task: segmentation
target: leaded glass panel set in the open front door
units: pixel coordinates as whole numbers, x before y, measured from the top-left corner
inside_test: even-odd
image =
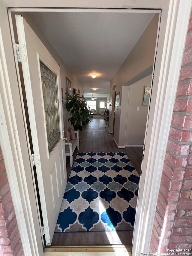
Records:
[[[57,76],[40,61],[49,153],[60,140]]]

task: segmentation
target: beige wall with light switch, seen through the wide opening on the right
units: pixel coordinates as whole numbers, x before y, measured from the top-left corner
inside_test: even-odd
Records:
[[[148,112],[148,106],[143,106],[143,96],[151,80],[152,74],[129,86],[125,146],[143,145]]]

